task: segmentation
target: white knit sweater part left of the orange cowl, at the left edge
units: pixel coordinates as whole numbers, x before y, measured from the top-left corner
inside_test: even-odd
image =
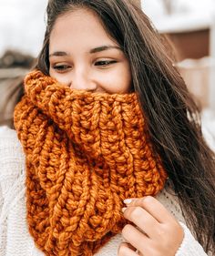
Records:
[[[15,130],[0,127],[0,256],[40,256],[26,223],[25,156]]]

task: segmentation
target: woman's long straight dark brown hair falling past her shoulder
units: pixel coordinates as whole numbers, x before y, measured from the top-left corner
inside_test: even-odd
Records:
[[[163,39],[138,5],[130,0],[49,0],[44,46],[36,68],[48,75],[49,36],[56,18],[81,7],[99,16],[128,56],[133,88],[187,224],[205,251],[214,252],[214,154],[202,137],[199,110],[172,65]]]

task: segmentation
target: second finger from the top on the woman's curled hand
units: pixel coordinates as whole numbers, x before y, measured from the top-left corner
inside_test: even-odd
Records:
[[[124,217],[137,225],[138,229],[146,233],[149,238],[153,239],[157,237],[160,223],[148,211],[139,206],[128,206],[124,210]]]

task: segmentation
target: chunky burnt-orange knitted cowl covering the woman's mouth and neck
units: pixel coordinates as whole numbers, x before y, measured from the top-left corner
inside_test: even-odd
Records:
[[[156,195],[167,178],[138,97],[72,90],[38,70],[25,91],[15,129],[29,231],[46,255],[93,255],[122,230],[122,201]]]

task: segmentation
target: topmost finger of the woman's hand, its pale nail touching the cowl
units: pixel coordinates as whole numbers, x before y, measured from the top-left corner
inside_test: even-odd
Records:
[[[148,213],[153,216],[154,219],[158,220],[160,223],[165,223],[169,221],[175,221],[174,217],[170,214],[170,212],[159,202],[159,200],[147,196],[141,199],[131,199],[124,200],[124,202],[128,206],[139,206],[144,210],[148,211]]]

